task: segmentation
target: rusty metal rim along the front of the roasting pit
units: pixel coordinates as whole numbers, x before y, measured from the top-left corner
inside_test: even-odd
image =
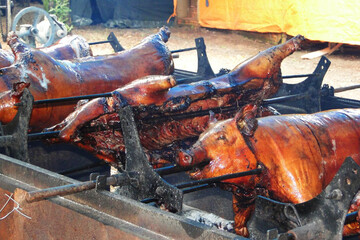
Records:
[[[0,188],[7,191],[33,191],[78,182],[0,154]],[[246,239],[108,191],[91,190],[48,201],[140,239]]]

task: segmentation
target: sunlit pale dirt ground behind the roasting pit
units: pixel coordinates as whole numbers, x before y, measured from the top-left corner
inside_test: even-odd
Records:
[[[232,69],[237,64],[247,58],[257,54],[272,44],[262,42],[258,39],[247,38],[236,31],[224,31],[206,29],[190,26],[173,26],[170,28],[171,37],[168,46],[171,50],[188,48],[195,46],[194,39],[203,37],[205,39],[206,51],[210,64],[215,73],[221,68]],[[146,36],[156,33],[158,29],[119,29],[105,28],[103,25],[87,26],[74,28],[72,34],[78,34],[87,39],[88,42],[106,40],[110,32],[114,32],[120,44],[125,48],[131,48]],[[2,42],[3,48],[8,48]],[[326,45],[325,45],[326,46]],[[109,44],[92,46],[95,55],[113,53]],[[282,64],[283,75],[312,73],[320,58],[303,60],[301,56],[316,50],[311,48],[295,52],[286,58]],[[331,61],[331,66],[324,78],[324,83],[334,88],[360,84],[360,52],[347,51],[342,53],[335,52],[327,56]],[[194,51],[181,53],[175,59],[175,67],[196,71],[197,57]],[[298,82],[302,79],[288,80],[287,82]],[[338,94],[338,96],[354,98],[360,100],[360,89],[351,90]]]

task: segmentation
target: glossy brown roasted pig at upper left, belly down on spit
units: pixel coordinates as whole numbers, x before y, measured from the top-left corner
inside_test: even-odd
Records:
[[[106,56],[74,60],[55,60],[48,54],[29,49],[14,36],[9,45],[15,62],[0,69],[0,121],[8,123],[16,110],[21,88],[19,82],[29,83],[35,100],[62,98],[112,91],[135,79],[154,74],[173,72],[173,60],[165,45],[170,32],[162,28],[159,33],[144,39],[137,46]],[[9,100],[10,99],[10,100]],[[49,105],[34,108],[30,127],[40,130],[62,121],[74,105]]]

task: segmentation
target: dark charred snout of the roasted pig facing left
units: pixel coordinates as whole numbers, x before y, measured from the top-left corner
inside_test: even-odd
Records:
[[[183,167],[194,166],[206,159],[206,151],[203,148],[181,150],[178,153],[177,164]]]

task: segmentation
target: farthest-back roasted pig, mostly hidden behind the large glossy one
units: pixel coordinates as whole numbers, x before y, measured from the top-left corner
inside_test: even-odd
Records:
[[[10,38],[13,37],[10,33]],[[90,45],[86,40],[78,35],[66,36],[50,47],[40,48],[39,50],[49,54],[58,60],[69,60],[92,56]],[[9,67],[14,63],[15,56],[12,52],[0,49],[0,68]]]

